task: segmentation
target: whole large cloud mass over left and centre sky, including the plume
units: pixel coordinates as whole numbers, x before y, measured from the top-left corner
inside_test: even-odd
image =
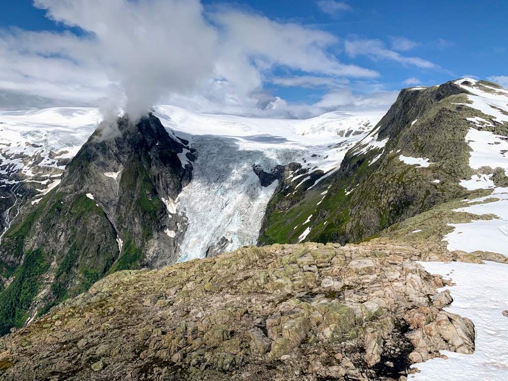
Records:
[[[202,112],[306,117],[356,107],[361,97],[343,86],[379,76],[342,63],[332,53],[340,41],[326,31],[231,8],[205,14],[199,0],[35,4],[83,34],[0,30],[0,89],[76,103],[109,97],[101,101],[105,114],[126,102],[139,115],[162,101]],[[314,104],[291,105],[266,83],[336,89]]]

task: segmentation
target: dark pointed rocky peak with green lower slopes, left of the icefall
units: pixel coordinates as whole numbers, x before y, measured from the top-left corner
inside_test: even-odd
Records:
[[[172,218],[173,199],[190,181],[193,156],[182,163],[186,146],[175,139],[152,115],[103,122],[61,182],[25,205],[0,243],[0,334],[108,271],[176,261],[184,221]]]

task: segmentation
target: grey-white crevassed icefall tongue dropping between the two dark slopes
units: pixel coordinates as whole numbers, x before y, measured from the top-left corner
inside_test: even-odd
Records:
[[[256,244],[278,181],[261,186],[252,165],[261,165],[270,172],[304,152],[290,148],[242,149],[235,139],[215,136],[196,137],[192,147],[199,152],[193,163],[193,180],[176,200],[176,210],[188,224],[179,261]]]

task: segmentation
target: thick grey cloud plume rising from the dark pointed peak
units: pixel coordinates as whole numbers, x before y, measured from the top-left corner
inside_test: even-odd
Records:
[[[123,87],[125,109],[138,117],[167,91],[187,92],[213,71],[215,30],[198,0],[36,0],[48,17],[79,27],[89,44],[71,52],[102,62]],[[80,44],[80,46],[83,46]]]

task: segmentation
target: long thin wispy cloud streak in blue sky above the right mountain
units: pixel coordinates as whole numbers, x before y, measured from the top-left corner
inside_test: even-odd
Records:
[[[414,65],[423,69],[437,69],[438,66],[419,57],[406,57],[393,50],[385,48],[380,40],[354,39],[345,41],[345,51],[351,57],[366,55],[372,59],[388,59],[399,63]]]

